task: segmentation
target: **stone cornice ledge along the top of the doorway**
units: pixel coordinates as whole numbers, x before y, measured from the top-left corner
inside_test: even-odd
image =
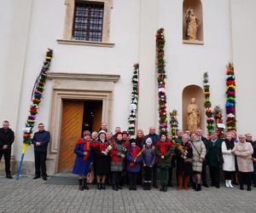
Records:
[[[102,74],[84,74],[84,73],[69,73],[69,72],[46,72],[47,78],[62,79],[62,80],[81,80],[81,81],[101,81],[113,82],[119,81],[120,75],[102,75]]]

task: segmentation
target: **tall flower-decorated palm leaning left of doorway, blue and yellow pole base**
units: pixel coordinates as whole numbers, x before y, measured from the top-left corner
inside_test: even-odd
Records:
[[[26,120],[26,127],[23,129],[22,154],[21,154],[21,158],[20,158],[19,168],[17,171],[17,180],[19,179],[19,176],[20,176],[21,165],[23,163],[23,158],[26,153],[26,149],[32,143],[32,129],[35,125],[35,121],[36,121],[36,118],[38,115],[39,104],[42,99],[42,95],[44,92],[44,84],[45,84],[45,81],[47,78],[46,72],[49,70],[52,56],[53,56],[53,50],[48,49],[46,52],[43,67],[42,67],[40,73],[38,74],[38,78],[36,79],[36,81],[34,83],[34,87],[32,89],[32,96],[31,96],[32,104],[29,109],[30,113]]]

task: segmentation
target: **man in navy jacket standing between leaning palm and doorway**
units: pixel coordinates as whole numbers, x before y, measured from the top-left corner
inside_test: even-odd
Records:
[[[41,169],[42,177],[44,181],[47,181],[45,161],[47,156],[47,146],[49,143],[49,139],[49,131],[44,130],[44,124],[38,124],[38,132],[36,132],[32,138],[32,144],[34,145],[36,168],[36,176],[33,179],[40,178]]]

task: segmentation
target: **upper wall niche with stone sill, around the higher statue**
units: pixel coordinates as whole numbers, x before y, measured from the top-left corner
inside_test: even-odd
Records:
[[[185,14],[189,8],[194,10],[195,16],[199,20],[196,40],[188,40],[186,37],[187,26]],[[201,0],[183,0],[183,43],[203,44],[203,12]]]

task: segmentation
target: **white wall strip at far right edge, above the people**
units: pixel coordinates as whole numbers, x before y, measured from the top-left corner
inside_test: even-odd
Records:
[[[233,0],[231,2],[232,48],[236,76],[236,119],[237,132],[245,134],[255,130],[256,96],[255,34],[256,2],[253,0]]]

